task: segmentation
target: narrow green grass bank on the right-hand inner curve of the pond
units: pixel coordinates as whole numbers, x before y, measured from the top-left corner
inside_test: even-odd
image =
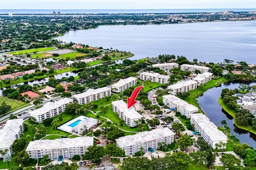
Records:
[[[231,115],[233,118],[236,117],[236,111],[235,111],[234,109],[228,107],[228,106],[223,102],[223,100],[221,99],[221,97],[218,99],[218,101],[219,101],[220,106],[224,109],[224,111],[226,111],[226,112],[227,112],[229,115]],[[238,128],[256,134],[256,130],[253,129],[252,126],[241,126],[241,125],[238,125],[238,124],[236,123],[236,121],[234,121],[234,123],[235,123],[235,125],[236,125]]]

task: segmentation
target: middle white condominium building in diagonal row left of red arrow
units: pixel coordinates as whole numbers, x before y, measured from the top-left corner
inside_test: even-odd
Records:
[[[111,89],[108,87],[89,89],[82,94],[74,95],[73,98],[77,100],[78,104],[86,104],[91,101],[102,99],[105,96],[111,96]]]

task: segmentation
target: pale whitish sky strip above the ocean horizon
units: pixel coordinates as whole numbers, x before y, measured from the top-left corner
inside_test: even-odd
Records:
[[[0,9],[256,8],[255,0],[0,0]],[[1,10],[0,10],[1,11]]]

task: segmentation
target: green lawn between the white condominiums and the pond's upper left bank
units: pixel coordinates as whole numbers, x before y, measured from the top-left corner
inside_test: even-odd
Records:
[[[226,82],[225,78],[212,79],[211,81],[205,83],[202,88],[197,88],[195,90],[189,91],[189,97],[185,99],[189,104],[194,105],[199,108],[199,113],[203,113],[201,111],[200,106],[197,103],[197,98],[204,94],[205,91],[220,86],[223,82]]]

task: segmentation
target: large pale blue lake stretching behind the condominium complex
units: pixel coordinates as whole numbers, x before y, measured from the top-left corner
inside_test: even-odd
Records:
[[[223,62],[225,58],[255,63],[256,21],[198,22],[163,25],[102,25],[69,31],[59,40],[130,51],[131,60],[159,54],[189,60]]]

